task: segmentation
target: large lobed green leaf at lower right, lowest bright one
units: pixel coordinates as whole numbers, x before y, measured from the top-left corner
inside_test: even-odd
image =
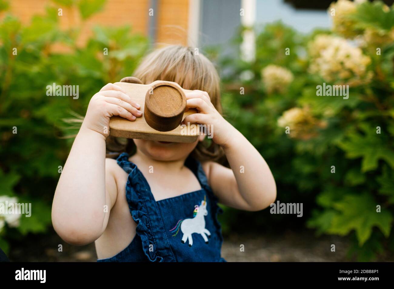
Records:
[[[376,212],[376,205],[376,201],[369,193],[345,195],[342,201],[333,204],[339,214],[333,217],[327,232],[345,236],[355,230],[360,246],[369,239],[374,226],[388,237],[393,217],[385,208],[382,208],[381,212]]]

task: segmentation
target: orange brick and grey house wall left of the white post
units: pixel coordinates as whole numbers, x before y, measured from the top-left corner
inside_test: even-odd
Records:
[[[11,0],[9,4],[10,12],[25,25],[33,15],[45,13],[45,7],[57,7],[50,0]],[[78,45],[85,44],[96,25],[129,25],[134,33],[150,37],[155,46],[192,47],[225,44],[240,25],[240,0],[107,0],[102,11],[85,21],[77,7],[59,8],[63,9],[61,28],[82,27]],[[149,16],[150,8],[154,18]]]

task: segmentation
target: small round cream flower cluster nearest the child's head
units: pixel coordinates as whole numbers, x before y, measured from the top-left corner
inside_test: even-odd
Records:
[[[293,81],[292,72],[281,66],[269,64],[261,71],[264,85],[269,94],[272,92],[284,93]]]

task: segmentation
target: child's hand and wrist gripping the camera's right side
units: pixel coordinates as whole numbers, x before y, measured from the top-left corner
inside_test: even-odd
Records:
[[[186,110],[195,108],[198,113],[190,114],[183,120],[183,124],[200,123],[208,125],[212,133],[212,140],[223,147],[227,147],[234,137],[234,127],[221,116],[211,103],[211,99],[207,92],[201,90],[193,90],[186,94]]]

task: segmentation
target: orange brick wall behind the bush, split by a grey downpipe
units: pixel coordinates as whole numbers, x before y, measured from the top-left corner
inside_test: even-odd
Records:
[[[158,0],[155,42],[165,44],[187,44],[189,0]],[[132,31],[148,35],[150,0],[107,0],[104,9],[83,22],[77,8],[63,9],[59,16],[62,28],[82,26],[78,44],[82,45],[92,35],[95,25],[132,26]],[[35,14],[45,13],[46,6],[57,7],[50,0],[11,0],[10,12],[28,24]]]

